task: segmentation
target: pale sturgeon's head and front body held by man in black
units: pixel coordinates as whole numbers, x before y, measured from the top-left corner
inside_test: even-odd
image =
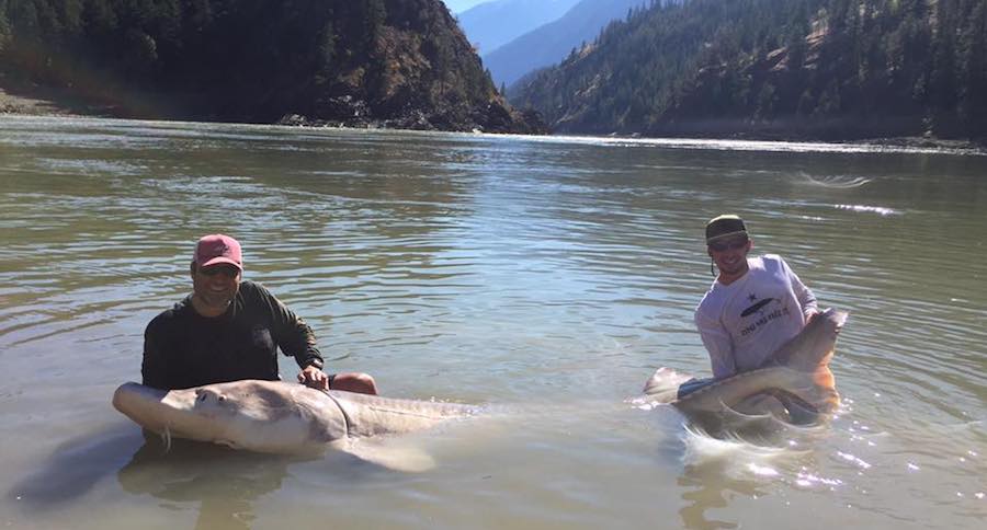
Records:
[[[423,430],[477,410],[254,379],[170,391],[128,382],[116,389],[113,406],[166,438],[279,454],[333,448],[372,461],[372,454],[358,452],[365,448],[355,447],[355,439]]]

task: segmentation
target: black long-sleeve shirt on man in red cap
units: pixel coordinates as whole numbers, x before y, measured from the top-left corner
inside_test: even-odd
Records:
[[[259,284],[242,281],[226,313],[202,316],[192,296],[144,333],[144,384],[188,389],[241,379],[280,379],[277,348],[299,367],[322,360],[311,327]]]

